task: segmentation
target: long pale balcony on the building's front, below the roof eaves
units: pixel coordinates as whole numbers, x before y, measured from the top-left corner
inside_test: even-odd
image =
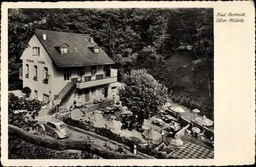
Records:
[[[95,80],[87,79],[86,81],[77,81],[76,82],[76,88],[78,89],[85,89],[85,88],[91,88],[96,87],[100,85],[106,85],[117,81],[117,76],[114,77],[101,77],[96,75]]]

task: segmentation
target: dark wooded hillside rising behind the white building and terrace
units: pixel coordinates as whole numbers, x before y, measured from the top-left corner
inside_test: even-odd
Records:
[[[115,61],[119,79],[131,69],[146,68],[173,91],[174,101],[201,107],[213,119],[213,12],[203,8],[11,9],[9,89],[21,86],[17,58],[34,28],[84,33]]]

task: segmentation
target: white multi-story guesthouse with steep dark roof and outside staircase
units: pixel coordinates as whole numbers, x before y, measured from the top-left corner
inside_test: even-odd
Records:
[[[35,30],[28,44],[20,79],[48,108],[116,94],[114,62],[88,35]]]

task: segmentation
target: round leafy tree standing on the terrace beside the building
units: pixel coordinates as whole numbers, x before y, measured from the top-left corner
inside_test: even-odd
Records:
[[[142,70],[132,70],[123,78],[124,86],[119,88],[122,104],[137,115],[140,125],[144,118],[156,115],[168,101],[168,91],[164,85]]]

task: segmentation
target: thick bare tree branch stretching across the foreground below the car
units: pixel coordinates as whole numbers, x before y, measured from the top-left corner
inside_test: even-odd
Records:
[[[22,129],[14,126],[8,125],[8,132],[16,137],[21,138],[22,140],[29,142],[33,145],[54,149],[54,150],[80,150],[91,152],[92,154],[98,155],[104,159],[150,159],[145,156],[139,155],[127,155],[113,152],[102,147],[99,147],[95,144],[87,144],[84,141],[58,141],[51,138],[45,138],[39,135],[35,135]],[[91,147],[89,146],[91,145]]]

